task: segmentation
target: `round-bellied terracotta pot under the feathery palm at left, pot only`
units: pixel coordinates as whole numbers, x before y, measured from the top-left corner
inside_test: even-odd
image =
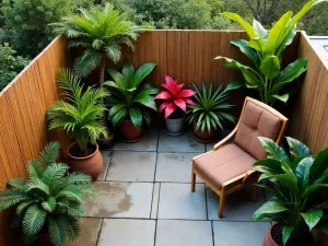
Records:
[[[92,154],[84,157],[77,157],[71,154],[70,150],[75,144],[77,142],[71,143],[67,150],[68,163],[71,167],[71,171],[87,174],[93,180],[96,180],[98,175],[103,172],[104,165],[98,144],[96,144],[96,150]]]

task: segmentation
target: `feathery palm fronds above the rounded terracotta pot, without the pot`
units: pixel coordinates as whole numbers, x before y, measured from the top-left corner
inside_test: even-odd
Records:
[[[67,102],[57,101],[47,112],[49,130],[63,129],[77,141],[81,154],[87,153],[87,144],[95,144],[99,137],[107,138],[102,116],[106,107],[99,102],[109,95],[104,89],[89,86],[83,91],[81,80],[69,69],[58,71],[58,82]]]

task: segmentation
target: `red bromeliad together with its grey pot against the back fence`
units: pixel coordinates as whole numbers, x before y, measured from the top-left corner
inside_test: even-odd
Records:
[[[162,101],[159,112],[165,109],[166,132],[171,136],[179,136],[184,131],[187,104],[195,103],[189,98],[196,94],[192,90],[183,90],[184,84],[178,84],[169,75],[165,77],[166,83],[161,84],[165,91],[160,92],[155,99]]]

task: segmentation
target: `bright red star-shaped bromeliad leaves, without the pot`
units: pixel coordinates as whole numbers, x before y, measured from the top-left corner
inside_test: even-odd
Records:
[[[167,118],[176,107],[181,108],[183,112],[187,110],[186,104],[194,105],[195,103],[188,97],[194,96],[196,92],[192,90],[181,90],[184,84],[178,84],[169,75],[165,77],[166,83],[161,84],[167,91],[162,91],[155,96],[155,99],[165,99],[160,105],[159,112],[162,113],[165,109],[165,118]]]

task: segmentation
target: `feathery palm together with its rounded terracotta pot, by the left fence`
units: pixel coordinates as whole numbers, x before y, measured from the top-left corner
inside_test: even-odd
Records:
[[[106,107],[99,102],[108,96],[104,89],[89,86],[83,92],[81,80],[69,69],[59,69],[58,81],[67,101],[57,101],[47,112],[49,130],[63,129],[71,140],[67,150],[72,171],[82,172],[95,180],[103,171],[103,157],[96,140],[107,138],[102,116]]]

